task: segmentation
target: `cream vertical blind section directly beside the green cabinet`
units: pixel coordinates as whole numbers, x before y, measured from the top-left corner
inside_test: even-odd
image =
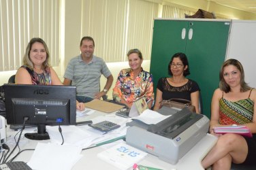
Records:
[[[127,49],[138,48],[145,60],[151,58],[154,18],[157,18],[158,3],[130,1],[127,27]],[[123,61],[128,58],[125,54]]]

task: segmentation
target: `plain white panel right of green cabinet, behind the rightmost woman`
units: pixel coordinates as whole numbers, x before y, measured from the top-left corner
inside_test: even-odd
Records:
[[[232,20],[227,57],[236,58],[244,68],[245,82],[256,87],[256,21]]]

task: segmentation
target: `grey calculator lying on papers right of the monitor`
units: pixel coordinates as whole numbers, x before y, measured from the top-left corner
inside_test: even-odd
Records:
[[[97,129],[101,132],[109,132],[112,131],[114,129],[118,129],[120,127],[119,124],[116,124],[114,122],[110,122],[108,120],[104,120],[102,122],[96,123],[96,124],[88,124],[89,126],[91,126],[94,129]]]

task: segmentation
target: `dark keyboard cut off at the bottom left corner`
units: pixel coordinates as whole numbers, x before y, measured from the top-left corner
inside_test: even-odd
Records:
[[[17,170],[17,169],[22,169],[22,170],[32,170],[27,163],[22,162],[22,161],[14,161],[10,163],[4,163],[0,165],[0,170]]]

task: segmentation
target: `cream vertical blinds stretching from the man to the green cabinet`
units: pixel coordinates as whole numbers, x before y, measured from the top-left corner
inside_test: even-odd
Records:
[[[157,10],[157,3],[142,0],[82,1],[81,37],[93,37],[95,54],[109,63],[127,61],[131,48],[150,59]]]

